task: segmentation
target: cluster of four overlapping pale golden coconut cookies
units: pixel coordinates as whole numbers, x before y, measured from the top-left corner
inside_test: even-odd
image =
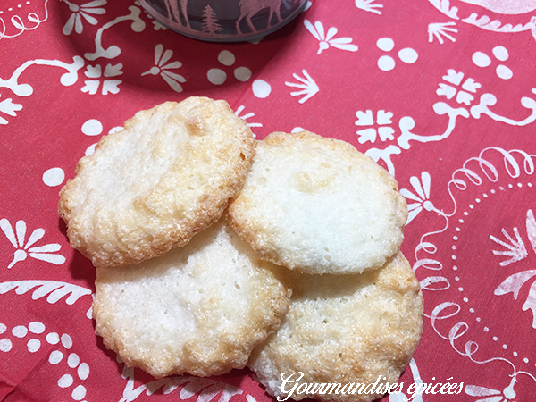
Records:
[[[76,173],[59,213],[96,266],[96,331],[126,364],[155,377],[248,366],[284,399],[284,373],[395,383],[413,356],[423,297],[399,251],[406,200],[348,143],[257,141],[224,101],[189,97],[137,113]]]

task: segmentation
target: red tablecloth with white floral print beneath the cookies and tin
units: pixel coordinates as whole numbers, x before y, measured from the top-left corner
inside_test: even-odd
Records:
[[[408,398],[448,382],[458,394],[412,400],[534,400],[535,72],[534,0],[314,0],[241,44],[181,37],[132,0],[4,0],[0,399],[275,400],[247,370],[156,381],[105,350],[95,270],[57,214],[100,136],[196,95],[227,100],[256,138],[342,138],[395,175],[425,303]]]

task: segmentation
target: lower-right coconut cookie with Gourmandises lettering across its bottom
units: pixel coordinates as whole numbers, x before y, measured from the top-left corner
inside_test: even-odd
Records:
[[[297,274],[289,314],[248,366],[278,400],[368,402],[394,390],[422,316],[419,283],[401,253],[358,275]]]

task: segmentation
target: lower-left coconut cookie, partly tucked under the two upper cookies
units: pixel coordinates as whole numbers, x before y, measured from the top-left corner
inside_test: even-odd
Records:
[[[155,377],[243,368],[288,311],[285,271],[222,220],[166,255],[97,268],[96,331],[126,364]]]

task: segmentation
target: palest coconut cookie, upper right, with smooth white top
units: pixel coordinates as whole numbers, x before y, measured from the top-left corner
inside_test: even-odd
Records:
[[[228,220],[255,251],[306,273],[359,273],[398,252],[406,199],[396,180],[350,144],[308,131],[257,145]]]

